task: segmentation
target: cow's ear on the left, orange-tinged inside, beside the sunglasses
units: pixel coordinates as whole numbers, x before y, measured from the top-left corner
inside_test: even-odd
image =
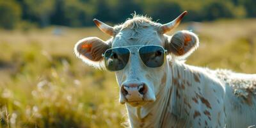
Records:
[[[74,47],[75,54],[86,64],[100,68],[103,60],[102,54],[111,46],[97,37],[88,37],[79,40]]]

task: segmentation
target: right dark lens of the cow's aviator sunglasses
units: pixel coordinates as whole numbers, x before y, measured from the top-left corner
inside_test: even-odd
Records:
[[[160,46],[149,45],[140,48],[140,58],[147,67],[161,67],[164,63],[164,49]]]

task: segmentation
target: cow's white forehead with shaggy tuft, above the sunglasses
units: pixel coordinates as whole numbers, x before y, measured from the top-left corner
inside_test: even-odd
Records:
[[[116,35],[112,47],[127,45],[162,45],[161,37],[157,32],[161,24],[153,22],[150,18],[134,15],[124,24],[115,26]]]

